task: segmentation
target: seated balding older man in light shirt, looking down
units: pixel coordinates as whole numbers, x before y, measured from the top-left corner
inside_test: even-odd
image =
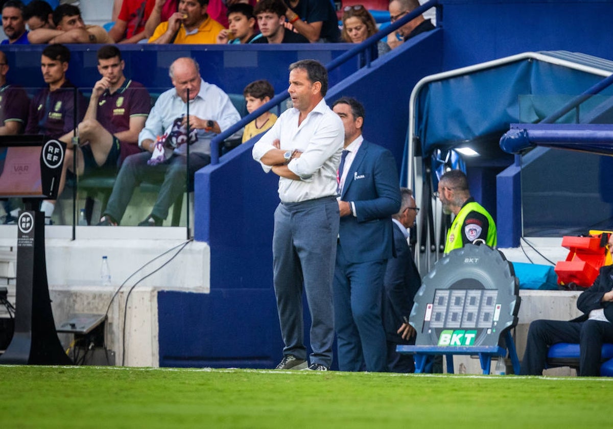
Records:
[[[139,146],[145,152],[128,156],[121,165],[99,225],[119,224],[137,184],[159,180],[153,210],[139,226],[161,226],[170,205],[185,192],[186,177],[193,181],[196,170],[210,163],[211,139],[240,120],[227,94],[202,80],[194,59],[176,59],[169,74],[174,88],[158,97],[139,134]],[[189,118],[185,116],[188,101]],[[189,163],[186,140],[191,144]]]

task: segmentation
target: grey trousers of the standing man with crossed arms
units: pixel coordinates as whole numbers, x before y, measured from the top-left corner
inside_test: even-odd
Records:
[[[338,238],[335,197],[280,203],[275,210],[273,276],[283,354],[307,359],[302,292],[311,313],[310,363],[332,365],[332,279]]]

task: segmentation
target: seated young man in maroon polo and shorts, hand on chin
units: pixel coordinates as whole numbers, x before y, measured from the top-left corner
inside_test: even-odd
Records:
[[[139,132],[145,126],[151,97],[142,84],[124,76],[125,64],[117,47],[104,45],[98,50],[97,59],[102,78],[94,84],[85,118],[77,127],[76,171],[73,170],[74,151],[69,144],[74,132],[60,139],[67,145],[63,175],[68,169],[78,176],[101,172],[114,177],[126,156],[141,151]],[[63,191],[64,178],[60,184],[58,197]],[[49,204],[55,207],[55,202],[48,201],[45,216],[53,214]]]

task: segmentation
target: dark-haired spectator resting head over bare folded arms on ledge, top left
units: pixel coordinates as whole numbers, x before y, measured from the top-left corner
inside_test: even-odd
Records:
[[[55,29],[39,28],[28,33],[32,44],[109,44],[114,40],[110,38],[104,28],[99,25],[85,25],[81,11],[72,4],[60,4],[53,10],[53,23]]]

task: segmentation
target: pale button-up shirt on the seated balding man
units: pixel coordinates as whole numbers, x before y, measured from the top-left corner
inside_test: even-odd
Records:
[[[151,139],[154,142],[158,135],[164,131],[172,122],[181,115],[186,115],[187,104],[177,95],[177,89],[170,88],[158,97],[155,105],[145,122],[145,127],[139,134],[139,146],[142,147],[143,140]],[[218,86],[200,80],[200,91],[198,95],[189,101],[189,115],[208,121],[216,121],[219,129],[229,128],[240,121],[240,114],[227,96]],[[232,134],[230,138],[240,138],[242,130]],[[211,154],[211,139],[217,134],[204,129],[198,130],[198,140],[189,147],[190,153],[199,152]],[[175,149],[177,154],[186,154],[187,145],[181,145]]]

